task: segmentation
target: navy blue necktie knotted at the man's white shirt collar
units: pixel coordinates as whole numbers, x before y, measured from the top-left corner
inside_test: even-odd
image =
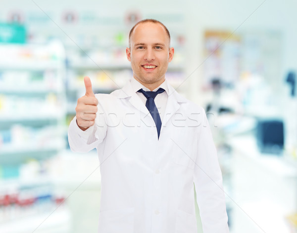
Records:
[[[159,136],[160,136],[162,122],[160,119],[158,109],[154,103],[154,98],[157,96],[157,94],[160,94],[164,91],[165,90],[163,88],[159,88],[157,91],[144,91],[143,89],[138,90],[138,92],[142,92],[144,94],[144,96],[147,97],[146,107],[148,108],[148,111],[149,111],[150,115],[152,116],[153,121],[156,124],[158,140],[159,140]]]

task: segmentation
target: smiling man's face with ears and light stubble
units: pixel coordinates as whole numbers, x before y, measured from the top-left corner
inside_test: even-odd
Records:
[[[165,29],[160,24],[151,22],[135,27],[130,48],[126,48],[133,77],[144,85],[161,84],[164,81],[173,53],[174,49],[169,48],[169,38]]]

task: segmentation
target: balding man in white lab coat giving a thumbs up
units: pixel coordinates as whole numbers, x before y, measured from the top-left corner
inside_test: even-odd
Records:
[[[156,20],[140,21],[126,54],[133,78],[95,95],[85,77],[86,95],[68,132],[72,151],[98,151],[99,233],[197,233],[194,183],[203,232],[228,233],[205,112],[165,79],[174,54],[168,30]]]

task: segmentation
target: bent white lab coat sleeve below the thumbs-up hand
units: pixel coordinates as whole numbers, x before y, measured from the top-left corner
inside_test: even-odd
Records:
[[[107,126],[104,119],[104,113],[98,105],[95,124],[87,130],[81,130],[76,122],[76,116],[70,122],[68,128],[68,142],[73,152],[89,152],[101,143],[106,135]]]

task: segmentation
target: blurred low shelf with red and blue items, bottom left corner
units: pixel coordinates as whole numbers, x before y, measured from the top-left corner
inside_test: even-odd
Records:
[[[34,176],[32,170],[37,168],[32,161],[22,165],[21,178],[0,181],[1,233],[69,232],[65,197],[49,175]]]

